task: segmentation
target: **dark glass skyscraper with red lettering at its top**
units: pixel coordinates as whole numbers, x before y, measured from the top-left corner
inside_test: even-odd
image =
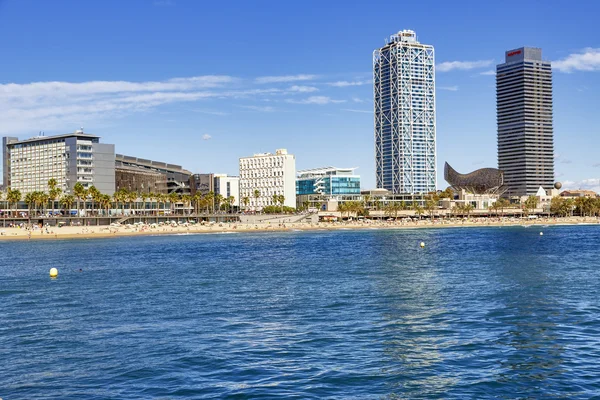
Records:
[[[535,195],[554,184],[552,68],[542,49],[509,50],[496,66],[498,168],[507,196]]]

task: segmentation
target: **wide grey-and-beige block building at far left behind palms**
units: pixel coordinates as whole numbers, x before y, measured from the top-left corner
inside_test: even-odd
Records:
[[[77,183],[104,194],[115,191],[115,146],[83,129],[26,140],[5,137],[2,144],[5,188],[47,192],[48,180],[55,179],[63,193],[73,193]]]

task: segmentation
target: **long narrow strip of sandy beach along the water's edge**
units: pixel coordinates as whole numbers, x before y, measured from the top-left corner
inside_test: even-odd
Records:
[[[503,220],[497,218],[481,218],[466,221],[429,220],[417,222],[319,222],[319,223],[288,223],[288,224],[240,224],[222,223],[213,225],[191,226],[159,226],[150,225],[122,225],[122,226],[66,226],[49,227],[43,229],[27,230],[22,228],[0,228],[0,242],[14,240],[71,240],[71,239],[106,239],[131,236],[158,236],[158,235],[193,235],[193,234],[223,234],[223,233],[248,233],[248,232],[290,232],[290,231],[338,231],[338,230],[391,230],[391,229],[431,229],[431,228],[472,228],[472,227],[514,227],[514,226],[558,226],[558,225],[598,225],[597,217],[567,217],[567,218],[541,218],[539,220]]]

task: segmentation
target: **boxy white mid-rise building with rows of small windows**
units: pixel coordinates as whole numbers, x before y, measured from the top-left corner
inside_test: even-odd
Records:
[[[258,194],[258,196],[255,196]],[[296,157],[286,149],[240,158],[240,205],[248,198],[251,210],[278,205],[273,195],[285,197],[284,205],[296,207]]]

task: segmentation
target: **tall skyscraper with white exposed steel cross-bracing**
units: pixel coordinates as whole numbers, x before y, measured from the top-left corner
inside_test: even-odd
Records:
[[[433,46],[404,30],[373,52],[375,173],[392,193],[436,190]]]

